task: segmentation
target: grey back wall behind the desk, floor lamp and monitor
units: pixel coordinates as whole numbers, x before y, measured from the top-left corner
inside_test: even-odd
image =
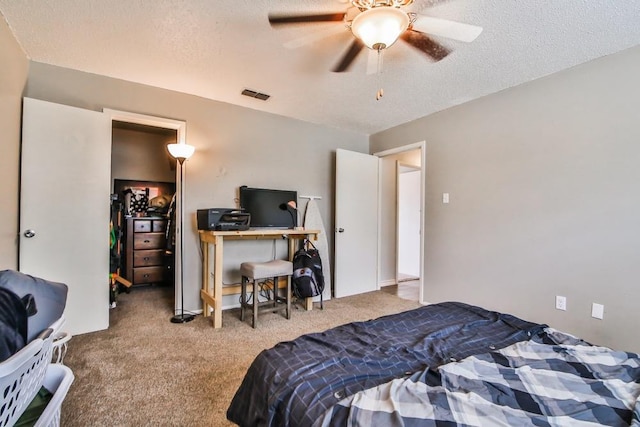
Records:
[[[335,150],[369,149],[366,135],[37,62],[30,66],[26,96],[96,111],[111,108],[186,121],[187,142],[196,147],[194,156],[185,162],[185,213],[189,217],[185,308],[191,310],[201,308],[197,209],[235,207],[240,185],[291,189],[322,197],[318,204],[325,227],[331,230]],[[333,235],[328,237],[332,247]],[[225,255],[229,255],[225,266],[237,270],[241,261],[270,258],[286,242],[277,242],[277,248],[263,243],[267,242],[244,242],[249,249],[225,245]],[[235,279],[231,271],[225,281]]]

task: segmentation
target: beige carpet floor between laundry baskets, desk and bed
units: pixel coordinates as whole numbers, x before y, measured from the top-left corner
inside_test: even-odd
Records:
[[[231,426],[226,411],[253,359],[280,341],[344,323],[418,307],[377,291],[331,299],[324,310],[293,309],[291,320],[266,313],[258,328],[239,310],[223,312],[223,328],[197,316],[169,322],[173,289],[134,288],[118,296],[105,331],[74,336],[65,364],[75,381],[62,405],[61,425]]]

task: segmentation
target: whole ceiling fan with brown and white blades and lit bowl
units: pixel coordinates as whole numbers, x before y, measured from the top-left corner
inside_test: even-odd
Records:
[[[382,51],[391,47],[400,38],[432,60],[440,61],[446,58],[451,50],[430,36],[472,42],[482,32],[482,28],[475,25],[433,18],[402,9],[411,3],[413,0],[351,0],[352,7],[345,12],[308,15],[270,14],[269,23],[272,26],[318,22],[344,23],[344,26],[331,30],[331,33],[343,31],[346,26],[354,35],[351,45],[333,68],[333,71],[338,73],[347,71],[365,46],[377,52],[378,58],[381,58]],[[322,32],[310,34],[285,46],[291,48],[303,46],[328,34]],[[378,69],[380,61],[379,59]],[[369,61],[369,64],[371,63]],[[368,73],[370,74],[371,71]]]

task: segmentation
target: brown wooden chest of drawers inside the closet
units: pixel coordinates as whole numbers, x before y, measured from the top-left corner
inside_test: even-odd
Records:
[[[171,281],[173,255],[167,252],[167,219],[126,219],[125,277],[133,285]]]

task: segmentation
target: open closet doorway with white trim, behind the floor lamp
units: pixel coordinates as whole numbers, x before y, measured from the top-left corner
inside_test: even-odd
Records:
[[[121,257],[127,258],[121,259],[120,273],[127,275],[126,279],[134,282],[134,286],[136,281],[141,283],[159,281],[173,285],[173,306],[175,310],[178,308],[178,301],[180,301],[181,297],[179,279],[176,279],[180,277],[179,270],[181,266],[179,263],[175,264],[171,261],[180,256],[180,254],[172,250],[170,239],[171,236],[175,235],[172,231],[173,228],[171,228],[172,224],[180,221],[180,218],[176,218],[176,215],[179,215],[179,209],[173,209],[172,211],[176,212],[176,214],[171,215],[171,211],[168,209],[169,205],[166,204],[166,197],[160,196],[166,196],[169,193],[171,193],[171,196],[175,194],[176,199],[180,196],[177,192],[180,191],[179,184],[182,177],[177,174],[176,162],[168,154],[166,145],[176,142],[185,143],[186,123],[108,109],[105,109],[104,113],[111,118],[112,125],[112,198],[118,197],[118,194],[114,191],[116,190],[114,183],[118,184],[119,188],[117,190],[120,194],[123,193],[121,191],[122,185],[128,185],[127,199],[125,200],[125,197],[122,196],[120,200],[123,217],[121,224],[121,236],[123,237],[120,246],[121,251],[126,251],[124,233],[128,232],[126,231],[127,222],[130,225],[130,231],[139,228],[138,222],[141,223],[140,225],[143,225],[142,223],[146,225],[146,222],[149,222],[152,227],[149,231],[154,235],[158,234],[158,236],[150,234],[150,237],[160,237],[159,235],[164,237],[157,245],[157,248],[144,248],[144,253],[138,254],[138,251],[132,249],[132,247],[129,250],[130,252],[135,252],[134,255],[122,253]],[[144,194],[136,194],[133,190],[144,192]],[[134,197],[135,203],[132,202]],[[138,198],[142,200],[142,206],[137,203]],[[170,203],[171,199],[169,198]],[[158,220],[157,218],[161,219]],[[181,230],[178,228],[177,233],[180,232]],[[179,238],[179,235],[176,238]],[[130,240],[133,241],[133,235],[130,236]],[[165,251],[165,249],[167,250]],[[147,252],[149,252],[149,256],[145,255]],[[166,252],[167,256],[160,259],[158,255],[161,252]],[[136,257],[135,260],[134,256]],[[125,272],[122,268],[127,265],[127,259],[129,268],[128,272]],[[139,262],[143,264],[140,265]],[[145,263],[151,263],[152,265],[144,265]],[[135,266],[135,268],[131,269],[131,266]],[[158,271],[156,270],[162,269],[166,269],[168,277],[160,278],[158,276]],[[135,280],[134,277],[136,278]]]

